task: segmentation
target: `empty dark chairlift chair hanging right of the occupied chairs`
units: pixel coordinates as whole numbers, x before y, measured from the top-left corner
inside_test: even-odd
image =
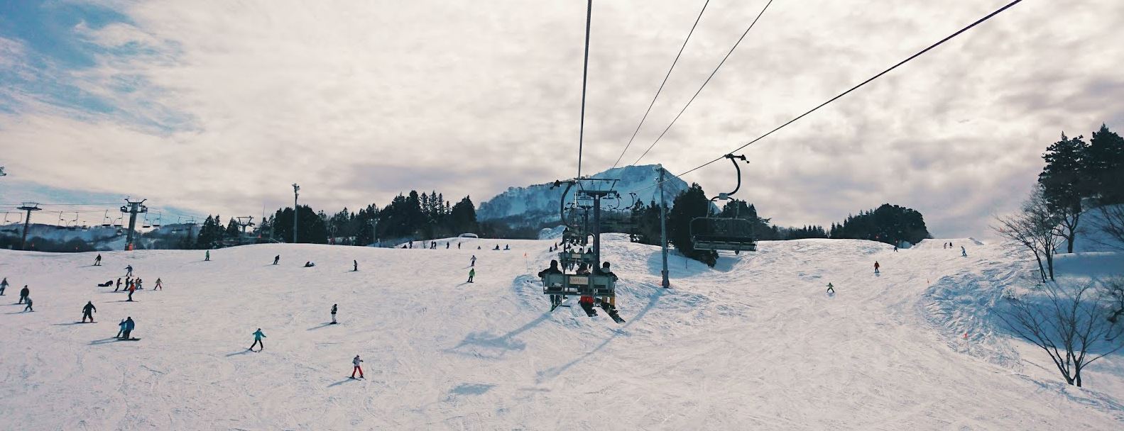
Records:
[[[737,161],[749,162],[744,155],[735,156],[727,154],[724,157],[734,164],[734,169],[737,172],[737,186],[734,187],[733,192],[718,193],[710,202],[720,200],[736,203],[737,200],[734,200],[731,195],[737,193],[742,187],[742,168],[737,165]],[[697,217],[691,220],[690,232],[695,249],[698,250],[727,250],[738,254],[741,251],[755,251],[758,249],[758,242],[753,235],[753,222],[737,218],[737,214],[734,214],[732,218]]]

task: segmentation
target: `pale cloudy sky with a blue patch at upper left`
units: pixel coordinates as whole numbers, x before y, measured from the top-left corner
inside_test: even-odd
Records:
[[[704,2],[595,1],[583,173],[620,155]],[[623,163],[765,2],[710,1]],[[679,173],[720,156],[1006,2],[777,0],[641,163]],[[3,0],[0,203],[132,195],[256,216],[294,182],[334,211],[572,177],[584,13],[580,0]],[[1124,131],[1122,40],[1122,1],[1023,1],[747,147],[738,195],[780,224],[891,202],[936,236],[986,236],[1062,131]],[[734,182],[725,163],[685,180]]]

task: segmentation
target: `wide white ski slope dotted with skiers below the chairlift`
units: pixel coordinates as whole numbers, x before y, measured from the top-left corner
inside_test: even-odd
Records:
[[[0,250],[12,284],[0,301],[0,429],[1124,429],[1121,356],[1071,387],[997,329],[990,304],[1033,282],[999,246],[762,242],[715,268],[672,257],[674,288],[662,290],[659,249],[611,235],[618,325],[578,306],[546,312],[532,274],[552,241],[453,241],[244,246],[212,262],[114,251],[101,267],[88,266],[93,254]],[[137,302],[94,287],[129,264],[145,279]],[[1087,277],[1124,258],[1059,266]],[[165,290],[152,292],[157,277]],[[24,284],[34,313],[8,305]],[[89,300],[99,322],[73,324]],[[329,325],[334,303],[341,324]],[[140,341],[111,339],[127,315]],[[247,352],[257,328],[265,349]],[[355,355],[365,380],[347,378]]]

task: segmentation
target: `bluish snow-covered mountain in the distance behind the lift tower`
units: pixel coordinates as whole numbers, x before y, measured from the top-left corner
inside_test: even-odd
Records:
[[[644,189],[655,184],[660,177],[660,165],[622,166],[608,169],[593,175],[593,178],[619,180],[616,190],[623,194],[623,203],[626,207],[632,203],[628,192]],[[504,193],[481,202],[477,209],[477,217],[480,220],[505,219],[513,224],[537,226],[544,222],[558,222],[559,202],[562,199],[564,187],[551,189],[552,183],[534,184],[526,187],[509,187]],[[687,183],[682,180],[671,177],[664,183],[668,199],[673,199],[680,192],[687,190]],[[573,193],[571,191],[570,193]],[[636,199],[645,204],[658,200],[659,189],[651,187],[636,193]],[[606,202],[605,205],[617,205],[617,202]],[[670,203],[669,203],[670,204]]]

